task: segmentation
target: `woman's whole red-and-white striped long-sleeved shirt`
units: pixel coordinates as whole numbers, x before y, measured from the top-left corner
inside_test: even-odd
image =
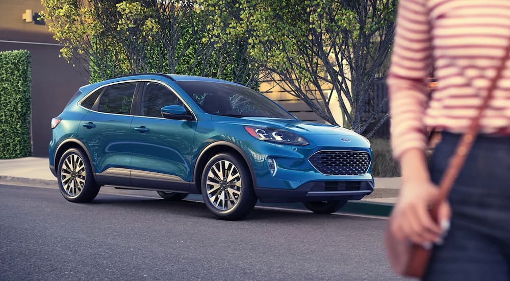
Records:
[[[509,0],[400,0],[388,77],[393,154],[425,149],[425,128],[464,132],[510,43]],[[435,65],[430,95],[427,76]],[[480,120],[510,132],[510,61]]]

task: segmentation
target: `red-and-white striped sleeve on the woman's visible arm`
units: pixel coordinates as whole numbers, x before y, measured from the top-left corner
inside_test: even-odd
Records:
[[[388,87],[393,156],[425,149],[424,115],[431,66],[431,35],[426,0],[400,0]]]

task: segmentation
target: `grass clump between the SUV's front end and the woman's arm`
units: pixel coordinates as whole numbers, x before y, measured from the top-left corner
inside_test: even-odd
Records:
[[[390,140],[373,138],[370,139],[370,144],[374,158],[372,175],[374,177],[399,177],[400,165],[397,160],[393,159]]]

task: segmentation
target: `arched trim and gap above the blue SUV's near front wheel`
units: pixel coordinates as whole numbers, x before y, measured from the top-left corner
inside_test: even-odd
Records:
[[[197,157],[195,167],[193,169],[192,178],[192,182],[194,182],[196,186],[196,191],[200,192],[202,176],[201,171],[203,171],[203,168],[206,167],[208,159],[211,159],[213,155],[221,152],[232,152],[240,155],[244,159],[250,172],[253,188],[255,188],[257,186],[257,178],[255,176],[255,170],[253,169],[253,165],[251,164],[250,158],[248,157],[246,152],[234,143],[228,142],[227,140],[218,140],[214,143],[207,145],[204,149],[202,149],[202,151]]]

